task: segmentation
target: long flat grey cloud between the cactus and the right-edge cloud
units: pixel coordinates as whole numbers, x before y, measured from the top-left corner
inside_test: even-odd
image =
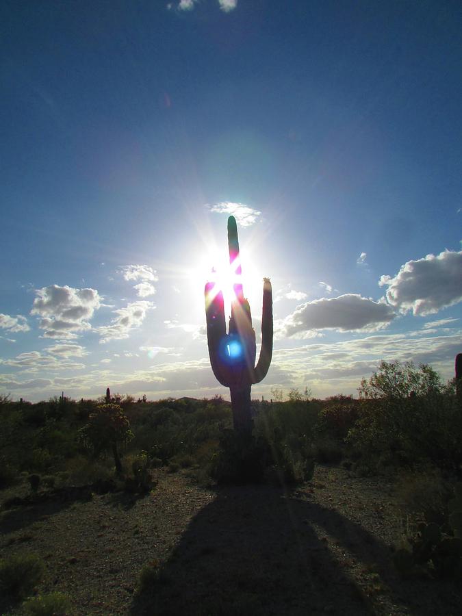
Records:
[[[350,293],[298,306],[284,319],[283,331],[288,336],[317,329],[376,331],[394,317],[394,311],[385,302]]]

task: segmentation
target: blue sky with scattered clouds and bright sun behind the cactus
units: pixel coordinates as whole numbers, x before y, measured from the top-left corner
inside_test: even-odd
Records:
[[[265,381],[462,352],[459,2],[0,8],[0,392],[227,394],[203,287],[238,220]]]

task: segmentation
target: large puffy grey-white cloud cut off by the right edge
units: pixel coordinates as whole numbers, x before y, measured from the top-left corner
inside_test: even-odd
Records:
[[[395,277],[382,276],[387,300],[402,313],[435,314],[462,301],[462,251],[444,251],[407,261]]]

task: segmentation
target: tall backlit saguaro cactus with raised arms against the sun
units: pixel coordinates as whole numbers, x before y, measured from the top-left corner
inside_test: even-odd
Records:
[[[242,268],[239,256],[238,227],[234,216],[228,218],[229,262],[233,273],[234,298],[231,303],[229,331],[226,332],[222,290],[214,281],[205,285],[205,316],[211,369],[217,380],[231,390],[231,406],[235,431],[252,431],[251,387],[268,372],[272,356],[272,290],[268,278],[263,285],[263,314],[261,319],[261,350],[257,365],[255,330],[252,327],[251,307],[244,298]]]

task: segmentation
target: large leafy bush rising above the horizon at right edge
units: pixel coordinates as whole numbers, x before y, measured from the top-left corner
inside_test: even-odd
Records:
[[[358,418],[346,439],[371,467],[379,459],[413,467],[431,461],[456,470],[462,462],[462,414],[450,387],[427,365],[381,362],[359,387]],[[384,457],[385,456],[385,457]]]

